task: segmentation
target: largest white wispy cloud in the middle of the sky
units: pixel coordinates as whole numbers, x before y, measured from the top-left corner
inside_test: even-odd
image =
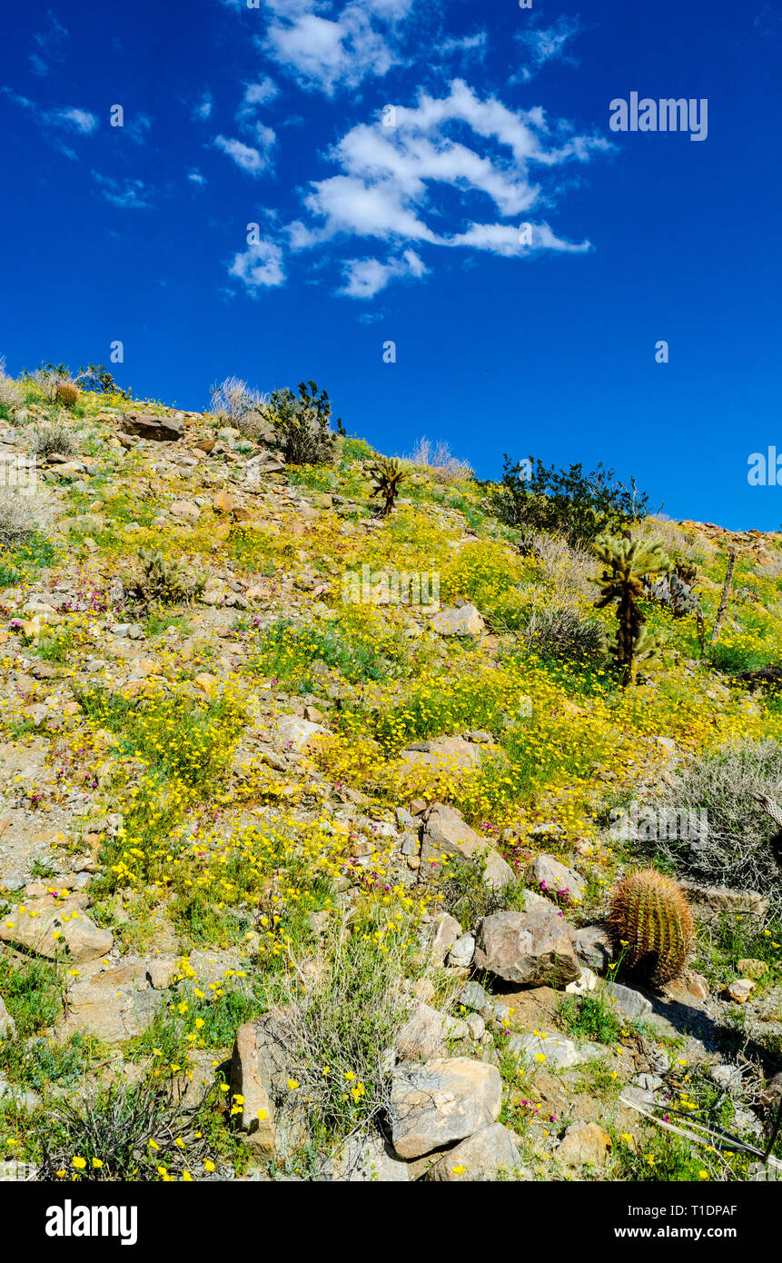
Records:
[[[416,253],[422,246],[502,258],[591,249],[557,236],[539,212],[556,201],[560,168],[611,149],[605,139],[577,134],[539,106],[510,110],[494,96],[481,99],[462,80],[441,97],[421,91],[416,105],[395,107],[392,121],[359,124],[328,152],[336,173],[312,181],[303,213],[275,226],[279,263],[283,245],[296,254],[382,242],[385,251],[342,263],[339,292],[366,299],[395,279],[424,275]]]

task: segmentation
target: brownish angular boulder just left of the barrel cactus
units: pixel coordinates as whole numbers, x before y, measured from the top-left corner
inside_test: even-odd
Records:
[[[565,988],[581,974],[572,932],[553,908],[495,912],[479,922],[474,965],[520,986]]]

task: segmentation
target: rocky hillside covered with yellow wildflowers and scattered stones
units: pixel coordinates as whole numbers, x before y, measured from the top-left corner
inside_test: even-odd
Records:
[[[637,523],[696,599],[644,590],[622,687],[596,557],[486,485],[408,464],[383,518],[361,440],[61,402],[0,408],[0,1159],[774,1177],[779,537]],[[606,930],[647,866],[657,988]]]

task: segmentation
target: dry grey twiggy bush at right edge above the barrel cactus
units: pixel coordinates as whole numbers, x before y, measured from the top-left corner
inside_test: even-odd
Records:
[[[695,837],[689,836],[694,831],[676,829],[683,836],[659,839],[656,845],[680,873],[695,880],[768,895],[778,916],[782,887],[769,846],[778,829],[755,793],[782,803],[782,746],[777,741],[706,750],[659,797],[659,806],[668,811],[702,808],[706,827]]]

